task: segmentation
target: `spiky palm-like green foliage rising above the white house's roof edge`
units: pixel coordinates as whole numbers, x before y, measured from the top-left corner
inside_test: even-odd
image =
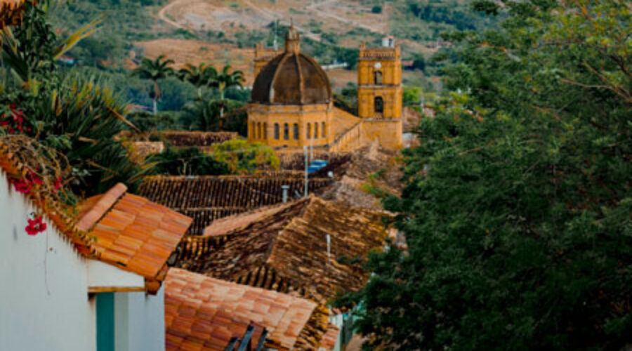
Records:
[[[61,41],[42,9],[46,3],[29,2],[22,24],[0,39],[0,118],[14,111],[21,116],[21,128],[9,124],[0,133],[27,135],[63,154],[77,193],[100,193],[119,181],[133,187],[147,168],[132,164],[113,138],[129,124],[124,102],[98,79],[65,72],[56,61],[89,35],[93,25]]]

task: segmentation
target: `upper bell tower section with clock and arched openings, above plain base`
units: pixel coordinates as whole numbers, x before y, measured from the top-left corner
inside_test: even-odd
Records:
[[[357,69],[357,114],[360,118],[402,118],[402,58],[393,37],[381,48],[360,46]]]

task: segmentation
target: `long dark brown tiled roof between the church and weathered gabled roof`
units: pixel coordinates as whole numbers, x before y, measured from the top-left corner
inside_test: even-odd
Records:
[[[323,190],[330,179],[310,179],[310,192]],[[282,185],[290,199],[303,194],[303,178],[277,176],[154,176],[145,179],[138,194],[194,218],[187,234],[202,235],[213,220],[251,211],[283,200]]]

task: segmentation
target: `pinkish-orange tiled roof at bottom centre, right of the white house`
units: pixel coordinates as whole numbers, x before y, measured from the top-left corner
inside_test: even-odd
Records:
[[[315,350],[327,332],[327,312],[303,298],[177,268],[164,285],[167,351],[224,350],[250,322],[268,329],[266,347],[278,350]]]

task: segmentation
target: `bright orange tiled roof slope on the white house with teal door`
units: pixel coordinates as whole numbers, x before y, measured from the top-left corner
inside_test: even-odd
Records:
[[[91,247],[100,260],[161,281],[192,219],[126,191],[118,184],[84,201],[77,227],[96,239]]]

